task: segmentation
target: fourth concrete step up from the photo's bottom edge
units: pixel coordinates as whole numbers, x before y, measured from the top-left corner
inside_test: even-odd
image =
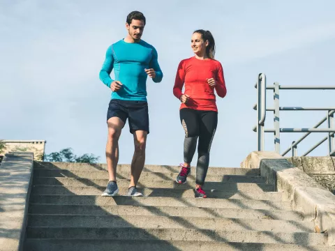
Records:
[[[197,208],[191,206],[87,206],[58,204],[29,204],[31,214],[54,215],[148,215],[179,217],[225,217],[270,220],[303,220],[295,211],[272,211],[237,208]]]

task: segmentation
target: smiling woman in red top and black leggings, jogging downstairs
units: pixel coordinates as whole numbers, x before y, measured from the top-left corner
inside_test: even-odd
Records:
[[[174,82],[174,96],[181,101],[180,121],[185,130],[184,163],[180,164],[177,183],[186,183],[198,142],[195,197],[207,198],[202,190],[209,166],[209,151],[218,123],[214,90],[224,98],[227,89],[221,63],[214,59],[215,42],[210,31],[194,31],[191,47],[195,56],[179,63]],[[182,93],[185,84],[185,91]]]

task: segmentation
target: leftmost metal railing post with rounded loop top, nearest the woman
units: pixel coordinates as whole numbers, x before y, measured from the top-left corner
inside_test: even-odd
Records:
[[[266,116],[266,93],[267,93],[267,80],[264,73],[260,73],[257,78],[257,145],[258,151],[264,151],[264,124]]]

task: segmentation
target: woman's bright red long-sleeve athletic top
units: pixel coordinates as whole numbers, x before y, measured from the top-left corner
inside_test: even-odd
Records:
[[[207,79],[214,78],[216,86],[209,86]],[[185,84],[185,91],[182,93]],[[219,61],[214,59],[184,59],[179,63],[176,80],[174,82],[173,94],[180,98],[187,94],[190,99],[186,104],[181,104],[180,109],[191,108],[204,111],[218,111],[216,107],[216,96],[224,98],[227,94],[223,68]]]

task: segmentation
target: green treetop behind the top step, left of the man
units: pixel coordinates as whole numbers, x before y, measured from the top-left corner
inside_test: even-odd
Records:
[[[77,156],[73,153],[73,149],[67,148],[62,149],[59,152],[53,152],[45,155],[45,161],[49,162],[80,162],[80,163],[96,163],[99,157],[94,154],[84,153],[81,156]]]

